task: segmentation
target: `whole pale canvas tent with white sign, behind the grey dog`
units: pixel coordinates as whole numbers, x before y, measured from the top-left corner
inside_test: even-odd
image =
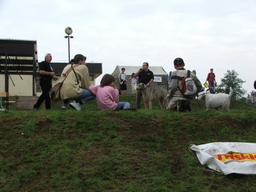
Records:
[[[129,78],[132,76],[132,73],[136,73],[140,68],[140,66],[125,66],[125,65],[116,65],[116,68],[114,72],[112,73],[112,76],[116,79],[116,84],[118,84],[118,75],[122,72],[122,68],[125,68],[125,74],[127,77],[127,93],[131,94],[131,81],[129,81]],[[168,88],[168,74],[164,70],[163,67],[154,67],[149,66],[149,70],[151,70],[154,74],[154,83],[152,83],[153,88]]]

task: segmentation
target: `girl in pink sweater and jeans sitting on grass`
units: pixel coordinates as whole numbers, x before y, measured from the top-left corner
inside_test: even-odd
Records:
[[[112,111],[120,109],[135,110],[134,108],[130,108],[129,102],[118,102],[119,92],[114,82],[115,77],[105,74],[100,81],[100,85],[91,85],[89,87],[93,95],[96,95],[98,108]]]

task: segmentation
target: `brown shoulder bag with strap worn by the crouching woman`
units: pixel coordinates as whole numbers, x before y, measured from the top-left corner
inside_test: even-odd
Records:
[[[55,81],[54,86],[52,86],[49,94],[51,95],[51,99],[53,101],[58,102],[58,101],[62,100],[61,95],[60,95],[60,89],[61,89],[61,86],[63,85],[63,82],[67,78],[68,74],[71,72],[71,70],[73,70],[76,75],[76,72],[71,65],[71,67],[68,68],[68,70],[66,72],[66,76],[60,76],[60,78]],[[77,83],[79,83],[79,81],[77,79],[77,75],[76,75],[76,80],[77,80]]]

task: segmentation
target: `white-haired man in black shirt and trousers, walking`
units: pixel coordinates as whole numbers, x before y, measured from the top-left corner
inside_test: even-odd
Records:
[[[39,74],[40,74],[40,86],[42,88],[42,95],[38,98],[36,104],[34,105],[34,110],[38,110],[40,105],[45,100],[45,109],[51,109],[51,97],[49,91],[52,88],[52,77],[54,77],[54,72],[50,63],[52,61],[52,55],[47,53],[45,55],[45,61],[39,63]]]

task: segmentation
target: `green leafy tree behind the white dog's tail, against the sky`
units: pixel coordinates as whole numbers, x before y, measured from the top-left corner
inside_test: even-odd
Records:
[[[243,79],[240,79],[239,74],[234,70],[227,70],[227,74],[224,74],[224,78],[221,78],[221,84],[216,88],[218,93],[229,93],[229,88],[233,89],[234,99],[241,99],[246,93],[246,90],[242,88],[242,84],[245,83]]]

